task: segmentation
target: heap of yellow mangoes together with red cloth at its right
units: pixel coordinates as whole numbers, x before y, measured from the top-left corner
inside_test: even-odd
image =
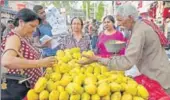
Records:
[[[131,78],[100,63],[80,65],[79,60],[88,60],[82,54],[94,55],[79,48],[59,50],[58,62],[28,91],[27,100],[169,100],[159,83],[147,76]]]

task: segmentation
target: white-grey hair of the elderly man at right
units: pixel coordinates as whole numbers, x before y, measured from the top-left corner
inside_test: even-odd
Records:
[[[116,10],[116,15],[127,18],[131,16],[134,21],[136,21],[139,17],[139,12],[135,6],[130,3],[125,3],[120,5]]]

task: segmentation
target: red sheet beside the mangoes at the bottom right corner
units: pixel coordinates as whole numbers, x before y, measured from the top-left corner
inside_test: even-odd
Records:
[[[157,81],[152,80],[143,74],[135,77],[134,79],[136,82],[138,82],[138,84],[142,84],[148,90],[148,100],[170,100],[170,96],[168,96],[168,94]]]

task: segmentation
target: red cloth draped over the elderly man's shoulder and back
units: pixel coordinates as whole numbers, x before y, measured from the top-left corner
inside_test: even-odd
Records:
[[[151,26],[153,28],[153,30],[157,33],[159,40],[161,42],[161,44],[163,46],[168,44],[168,40],[166,39],[166,37],[164,36],[163,32],[161,31],[161,29],[153,22],[147,20],[147,19],[142,19],[146,24],[148,24],[149,26]]]

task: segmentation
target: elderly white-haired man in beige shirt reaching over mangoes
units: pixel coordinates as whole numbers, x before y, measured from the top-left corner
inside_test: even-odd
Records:
[[[167,43],[166,38],[154,23],[138,17],[137,9],[131,4],[121,5],[117,9],[118,25],[132,32],[124,56],[86,56],[90,60],[80,63],[98,61],[110,70],[128,70],[136,65],[140,73],[158,81],[170,93],[170,62],[163,47]]]

